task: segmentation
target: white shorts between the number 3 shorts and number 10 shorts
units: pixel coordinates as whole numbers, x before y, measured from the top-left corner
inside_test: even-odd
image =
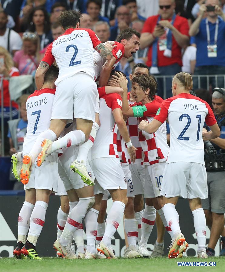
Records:
[[[145,166],[139,163],[129,164],[129,169],[131,171],[132,183],[134,187],[134,195],[143,195],[144,181],[145,181]]]

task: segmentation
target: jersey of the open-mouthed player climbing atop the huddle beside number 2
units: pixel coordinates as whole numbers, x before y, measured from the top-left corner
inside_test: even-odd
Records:
[[[121,44],[121,43],[119,43],[117,41],[115,41],[114,43],[117,46],[113,48],[112,54],[116,58],[116,62],[114,64],[114,66],[112,67],[112,70],[114,70],[116,68],[117,64],[120,62],[121,58],[124,55],[124,46],[123,46],[123,44]],[[101,73],[101,69],[102,69],[102,66],[105,63],[105,60],[98,54],[98,52],[96,50],[94,50],[93,56],[94,56],[94,80],[98,81],[100,73]]]

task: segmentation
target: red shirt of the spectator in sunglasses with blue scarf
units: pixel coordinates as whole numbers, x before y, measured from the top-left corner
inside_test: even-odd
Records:
[[[159,18],[159,15],[154,15],[149,18],[144,23],[144,27],[142,29],[141,33],[153,33],[154,28],[157,24],[157,20]],[[161,19],[162,20],[162,19]],[[169,20],[171,22],[171,19]],[[176,16],[174,21],[174,27],[180,31],[183,35],[188,35],[189,31],[189,25],[186,18],[181,16]],[[165,34],[164,34],[165,35]],[[158,66],[168,66],[174,63],[178,63],[180,66],[182,66],[182,60],[181,60],[181,48],[177,44],[177,41],[174,38],[174,35],[172,34],[172,56],[171,57],[165,57],[163,55],[164,51],[159,51],[159,45],[157,45],[157,52],[158,52]],[[146,62],[146,65],[148,67],[152,66],[152,44],[148,50],[148,60]]]

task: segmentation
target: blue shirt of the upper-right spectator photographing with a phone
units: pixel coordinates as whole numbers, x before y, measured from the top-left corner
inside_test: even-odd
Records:
[[[199,26],[199,32],[195,36],[195,43],[197,45],[196,54],[196,67],[204,65],[218,65],[225,66],[225,22],[219,19],[219,30],[217,38],[217,57],[208,57],[207,55],[207,32],[206,32],[206,19],[203,19]],[[210,30],[210,44],[214,44],[216,23],[209,22]]]

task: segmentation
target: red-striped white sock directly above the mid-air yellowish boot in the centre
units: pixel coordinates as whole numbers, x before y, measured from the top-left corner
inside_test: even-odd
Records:
[[[87,142],[80,144],[80,148],[79,148],[78,155],[77,155],[77,160],[81,164],[86,165],[88,152],[91,149],[91,147],[93,146],[98,129],[100,129],[99,125],[94,122],[92,129],[91,129],[91,134],[90,134],[89,139],[87,140]]]

